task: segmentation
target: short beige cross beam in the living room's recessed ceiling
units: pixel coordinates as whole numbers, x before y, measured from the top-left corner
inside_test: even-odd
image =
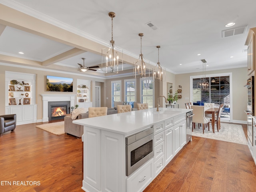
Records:
[[[52,57],[52,58],[50,58],[48,60],[43,61],[42,62],[42,66],[49,66],[51,64],[60,62],[62,60],[65,60],[65,59],[74,57],[76,55],[82,54],[84,52],[86,52],[86,51],[78,49],[78,48],[73,48],[71,50],[68,50],[68,51],[62,53],[62,54],[56,55],[56,56],[54,56],[54,57]]]

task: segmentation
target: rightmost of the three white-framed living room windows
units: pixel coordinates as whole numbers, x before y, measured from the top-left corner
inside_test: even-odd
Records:
[[[148,103],[148,108],[154,107],[154,83],[152,78],[140,79],[140,94],[141,102]]]

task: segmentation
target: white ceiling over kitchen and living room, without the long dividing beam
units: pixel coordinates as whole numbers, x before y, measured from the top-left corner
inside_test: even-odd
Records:
[[[104,46],[111,39],[108,12],[115,12],[113,38],[124,54],[134,61],[138,59],[138,33],[144,33],[144,57],[155,65],[158,61],[156,46],[160,45],[159,61],[174,74],[202,71],[201,59],[207,61],[206,70],[247,66],[247,46],[244,43],[249,28],[256,27],[255,0],[0,0],[1,4],[2,17],[6,7],[12,8]],[[23,58],[38,62],[38,67],[77,73],[81,73],[77,71],[78,63],[83,64],[81,58],[86,58],[86,66],[100,66],[102,62],[101,50],[90,51],[91,44],[84,49],[50,36],[18,29],[3,20],[0,18],[2,62],[11,60],[3,59],[5,56]],[[24,26],[29,22],[24,21]],[[236,24],[225,27],[230,22]],[[148,23],[154,25],[154,29]],[[239,29],[235,31],[236,28]],[[132,69],[132,62],[126,63],[124,68]],[[105,75],[100,70],[94,74]]]

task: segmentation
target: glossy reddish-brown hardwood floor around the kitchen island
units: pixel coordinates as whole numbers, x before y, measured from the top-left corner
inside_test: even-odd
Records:
[[[51,134],[37,124],[42,123],[20,125],[0,137],[0,191],[83,192],[81,139]],[[252,192],[255,188],[256,166],[248,146],[193,137],[144,192]]]

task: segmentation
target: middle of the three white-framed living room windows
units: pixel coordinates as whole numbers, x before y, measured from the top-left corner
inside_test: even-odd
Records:
[[[136,101],[136,79],[127,79],[124,80],[124,101],[128,105],[132,105]]]

